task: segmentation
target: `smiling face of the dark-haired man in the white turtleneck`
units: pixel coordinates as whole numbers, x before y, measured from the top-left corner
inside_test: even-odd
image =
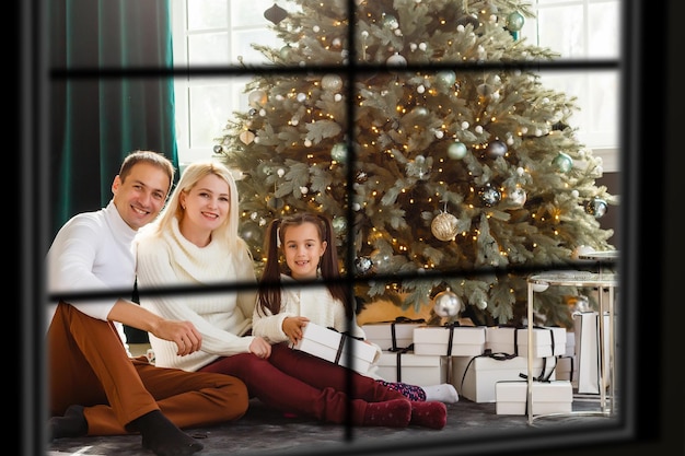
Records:
[[[112,184],[114,206],[121,219],[133,230],[150,223],[162,210],[171,186],[169,175],[150,163],[136,163],[121,180]]]

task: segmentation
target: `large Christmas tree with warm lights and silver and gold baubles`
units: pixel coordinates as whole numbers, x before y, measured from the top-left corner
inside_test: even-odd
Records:
[[[283,46],[254,45],[268,71],[214,147],[241,173],[257,269],[271,219],[323,212],[363,305],[492,325],[521,323],[532,271],[613,249],[597,219],[617,199],[576,139],[576,100],[534,71],[558,56],[519,36],[530,5],[295,3],[265,12]],[[550,288],[536,315],[569,326],[569,296],[582,292]]]

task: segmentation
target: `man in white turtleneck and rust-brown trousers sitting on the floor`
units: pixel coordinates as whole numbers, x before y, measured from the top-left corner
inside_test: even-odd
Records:
[[[236,420],[247,410],[247,388],[235,377],[155,367],[146,356],[129,356],[124,325],[174,341],[182,356],[202,342],[191,323],[116,297],[132,294],[133,236],[164,206],[173,176],[161,154],[131,153],[107,207],[74,215],[50,246],[50,440],[140,433],[142,446],[156,455],[186,456],[202,445],[181,428]]]

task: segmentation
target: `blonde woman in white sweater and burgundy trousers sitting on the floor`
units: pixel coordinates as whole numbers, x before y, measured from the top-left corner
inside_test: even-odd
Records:
[[[237,235],[237,212],[230,171],[213,161],[196,162],[160,218],[137,237],[141,305],[191,321],[202,337],[198,351],[179,356],[175,344],[150,335],[156,365],[236,376],[267,406],[324,422],[444,426],[446,413],[433,421],[414,419],[414,402],[361,375],[352,376],[348,395],[345,367],[251,335],[256,278]],[[191,285],[195,293],[146,293],[179,285]]]

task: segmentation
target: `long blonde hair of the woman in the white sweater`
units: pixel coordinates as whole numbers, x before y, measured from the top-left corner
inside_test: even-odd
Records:
[[[212,233],[212,239],[224,243],[232,252],[239,246],[239,243],[243,242],[237,234],[239,224],[239,202],[237,202],[237,187],[235,186],[235,179],[223,164],[213,161],[199,161],[190,163],[181,174],[178,184],[172,191],[164,209],[162,209],[159,218],[154,221],[152,232],[161,233],[171,229],[171,223],[174,218],[181,220],[183,217],[183,209],[181,208],[181,194],[188,192],[193,187],[197,185],[205,176],[213,174],[219,176],[229,185],[229,215],[227,220],[214,230]]]

